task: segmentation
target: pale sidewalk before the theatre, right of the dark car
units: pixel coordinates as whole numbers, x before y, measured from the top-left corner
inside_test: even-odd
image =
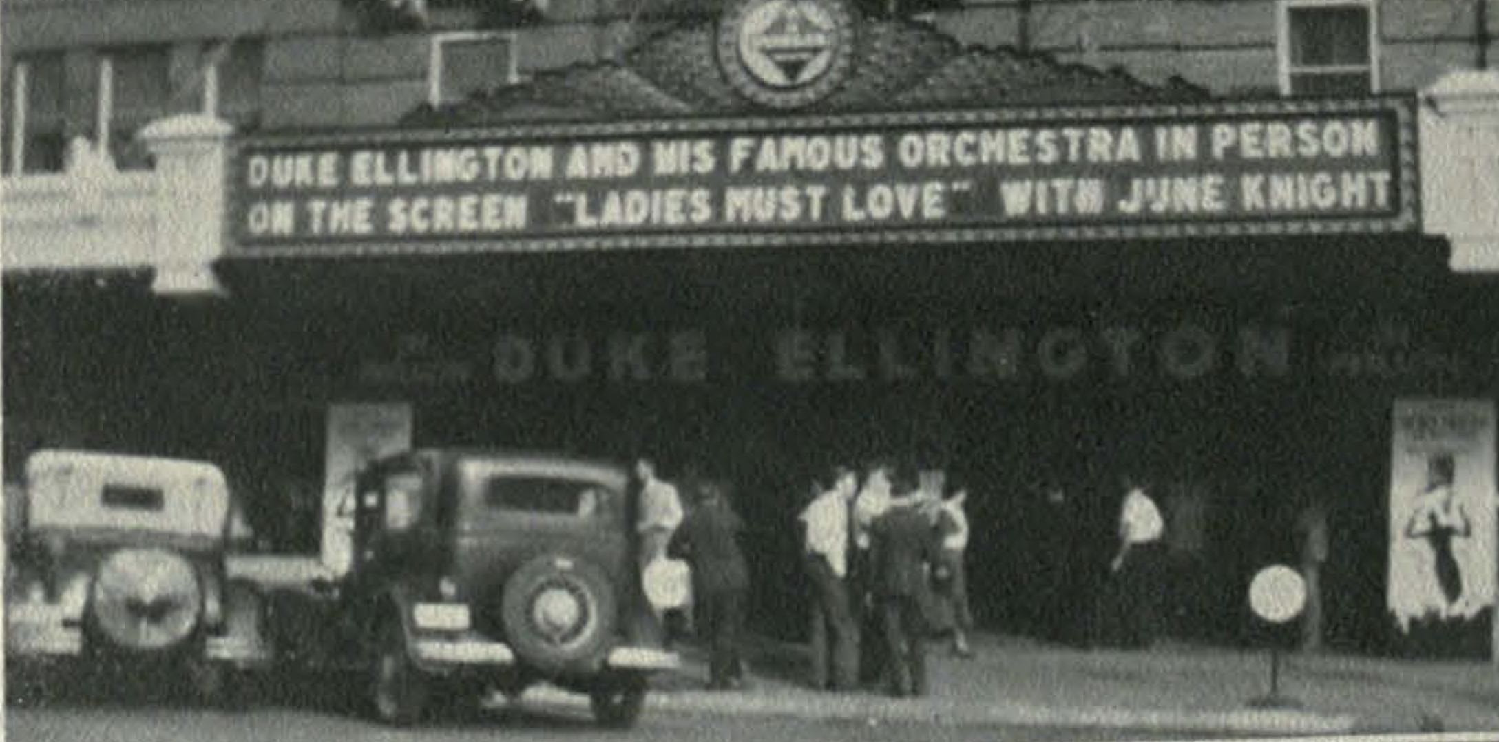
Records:
[[[931,694],[889,699],[808,691],[799,685],[802,649],[763,639],[747,652],[751,688],[706,691],[705,655],[687,648],[684,669],[655,678],[648,703],[814,720],[1160,732],[1499,732],[1499,669],[1489,663],[1286,655],[1280,693],[1300,708],[1256,709],[1249,702],[1270,688],[1268,652],[1189,645],[1087,651],[998,636],[977,637],[974,649],[977,658],[964,661],[934,645]]]

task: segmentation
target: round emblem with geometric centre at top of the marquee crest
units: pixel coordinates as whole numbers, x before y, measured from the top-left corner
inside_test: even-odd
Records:
[[[799,108],[838,87],[853,58],[844,0],[741,0],[718,25],[718,63],[745,97]]]

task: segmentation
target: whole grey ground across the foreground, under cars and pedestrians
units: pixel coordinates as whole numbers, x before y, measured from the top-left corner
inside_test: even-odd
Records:
[[[889,699],[874,691],[814,693],[800,687],[802,648],[752,639],[752,684],[703,688],[699,648],[684,669],[654,678],[637,735],[663,741],[818,739],[1102,741],[1346,733],[1475,732],[1499,741],[1499,670],[1487,663],[1417,663],[1343,655],[1292,655],[1280,690],[1292,709],[1256,709],[1268,690],[1262,652],[1166,645],[1151,651],[1087,651],[1016,637],[980,636],[974,660],[934,646],[931,694]],[[541,687],[519,703],[496,697],[480,720],[436,721],[420,732],[364,721],[340,699],[340,681],[288,685],[273,678],[258,703],[223,714],[172,700],[156,687],[73,688],[40,708],[9,708],[7,739],[619,739],[594,727],[586,700]],[[166,696],[163,696],[166,693]]]

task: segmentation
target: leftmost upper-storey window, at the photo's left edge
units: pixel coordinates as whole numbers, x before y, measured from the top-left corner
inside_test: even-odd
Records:
[[[6,70],[0,103],[4,172],[63,169],[64,81],[61,52],[19,55]]]

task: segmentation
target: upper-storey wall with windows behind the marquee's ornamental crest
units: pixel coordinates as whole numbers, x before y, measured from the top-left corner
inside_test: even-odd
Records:
[[[15,0],[3,166],[57,171],[73,136],[144,165],[132,133],[208,111],[240,130],[382,126],[574,63],[618,58],[724,0]],[[1414,91],[1499,52],[1480,0],[860,0],[962,45],[1174,76],[1222,96]]]

